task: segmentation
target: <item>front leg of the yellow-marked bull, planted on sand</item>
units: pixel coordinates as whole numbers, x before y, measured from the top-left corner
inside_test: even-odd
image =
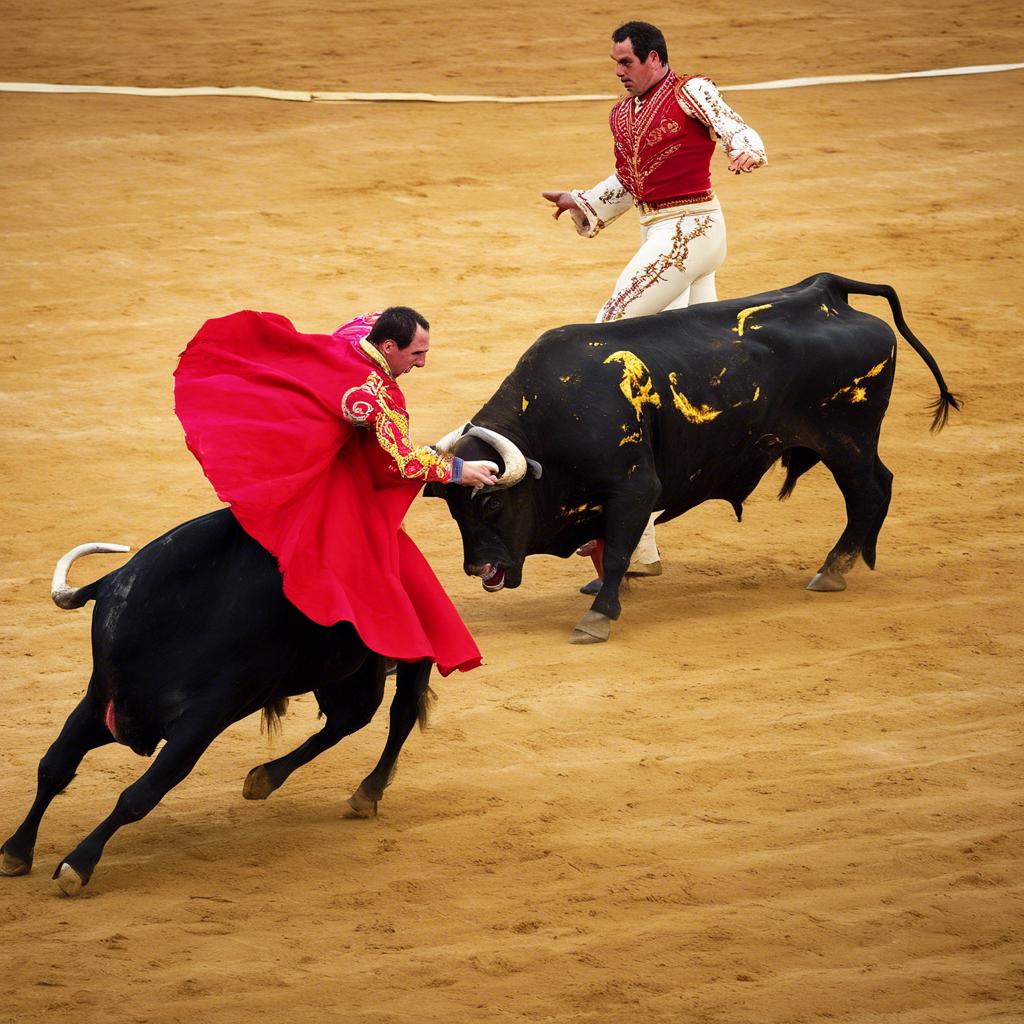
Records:
[[[569,643],[602,643],[610,636],[611,623],[623,610],[618,600],[623,578],[660,493],[660,482],[651,471],[635,474],[628,489],[605,500],[604,579]]]

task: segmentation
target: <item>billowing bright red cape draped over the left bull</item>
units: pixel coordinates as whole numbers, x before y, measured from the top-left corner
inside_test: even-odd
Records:
[[[430,658],[441,675],[474,669],[473,638],[401,528],[423,481],[381,473],[373,430],[342,418],[342,395],[374,369],[345,340],[246,310],[207,321],[188,343],[175,412],[294,605],[322,626],[351,623],[386,657]]]

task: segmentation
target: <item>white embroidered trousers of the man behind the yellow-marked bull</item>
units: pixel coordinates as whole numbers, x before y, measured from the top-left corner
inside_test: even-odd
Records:
[[[715,271],[725,262],[725,220],[717,203],[702,204],[683,216],[648,220],[640,228],[640,248],[618,275],[597,323],[714,302]],[[660,560],[654,540],[659,512],[647,521],[631,565]]]

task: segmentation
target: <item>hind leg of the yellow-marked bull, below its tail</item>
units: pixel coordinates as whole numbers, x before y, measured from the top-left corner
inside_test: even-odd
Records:
[[[846,502],[846,529],[828,552],[807,589],[819,593],[846,590],[845,573],[859,555],[874,561],[874,541],[889,507],[892,475],[882,466],[874,444],[864,454],[855,450],[825,453],[828,467]],[[881,467],[881,470],[880,468]]]

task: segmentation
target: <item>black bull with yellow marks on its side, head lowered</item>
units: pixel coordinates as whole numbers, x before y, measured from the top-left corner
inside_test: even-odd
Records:
[[[897,339],[850,306],[850,294],[888,299],[939,385],[932,429],[940,428],[957,400],[886,285],[821,273],[749,298],[558,328],[527,349],[472,420],[540,467],[504,490],[428,487],[459,523],[466,571],[484,577],[487,590],[517,587],[527,555],[565,557],[603,539],[603,585],[573,640],[606,639],[650,514],[660,510],[665,522],[718,498],[738,517],[778,459],[780,498],[822,462],[846,500],[846,528],[809,589],[842,590],[858,555],[873,568],[892,490],[878,442]],[[496,458],[477,436],[454,450]]]

